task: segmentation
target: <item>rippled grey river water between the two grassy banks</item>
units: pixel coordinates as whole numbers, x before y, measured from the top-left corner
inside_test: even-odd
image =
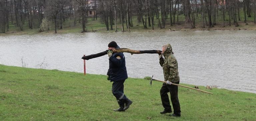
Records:
[[[81,57],[121,48],[161,50],[171,44],[181,83],[256,93],[256,31],[118,32],[0,36],[0,64],[83,72]],[[158,54],[124,53],[129,77],[163,79]],[[106,74],[108,56],[86,61],[86,72]],[[126,82],[127,83],[127,82]],[[145,83],[149,84],[149,83]]]

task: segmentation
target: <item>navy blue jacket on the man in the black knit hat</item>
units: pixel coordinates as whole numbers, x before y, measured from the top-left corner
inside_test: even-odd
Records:
[[[121,59],[117,59],[117,56],[121,57]],[[128,78],[123,53],[114,53],[109,58],[109,69],[107,75],[109,75],[110,81],[121,81]]]

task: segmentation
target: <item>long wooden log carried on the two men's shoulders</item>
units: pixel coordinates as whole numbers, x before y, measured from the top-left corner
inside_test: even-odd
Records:
[[[93,59],[93,58],[98,58],[104,55],[107,55],[107,51],[103,51],[101,53],[97,53],[97,54],[92,54],[89,56],[83,56],[82,59],[83,60],[89,60],[89,59]],[[161,54],[162,51],[160,50],[146,50],[146,51],[137,51],[137,50],[131,50],[128,48],[118,48],[118,49],[113,49],[112,50],[113,53],[130,53],[130,54]]]

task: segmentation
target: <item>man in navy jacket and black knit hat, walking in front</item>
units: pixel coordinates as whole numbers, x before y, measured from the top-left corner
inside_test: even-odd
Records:
[[[119,108],[114,109],[114,111],[125,111],[132,104],[132,101],[124,94],[124,81],[128,78],[125,57],[123,53],[113,53],[112,49],[120,48],[115,41],[110,42],[108,47],[109,69],[107,79],[110,80],[110,82],[113,81],[112,93],[119,104]]]

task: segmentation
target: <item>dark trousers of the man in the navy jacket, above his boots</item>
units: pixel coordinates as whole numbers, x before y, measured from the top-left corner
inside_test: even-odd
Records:
[[[124,81],[114,81],[112,84],[112,93],[116,100],[125,100],[127,97],[124,95]]]

